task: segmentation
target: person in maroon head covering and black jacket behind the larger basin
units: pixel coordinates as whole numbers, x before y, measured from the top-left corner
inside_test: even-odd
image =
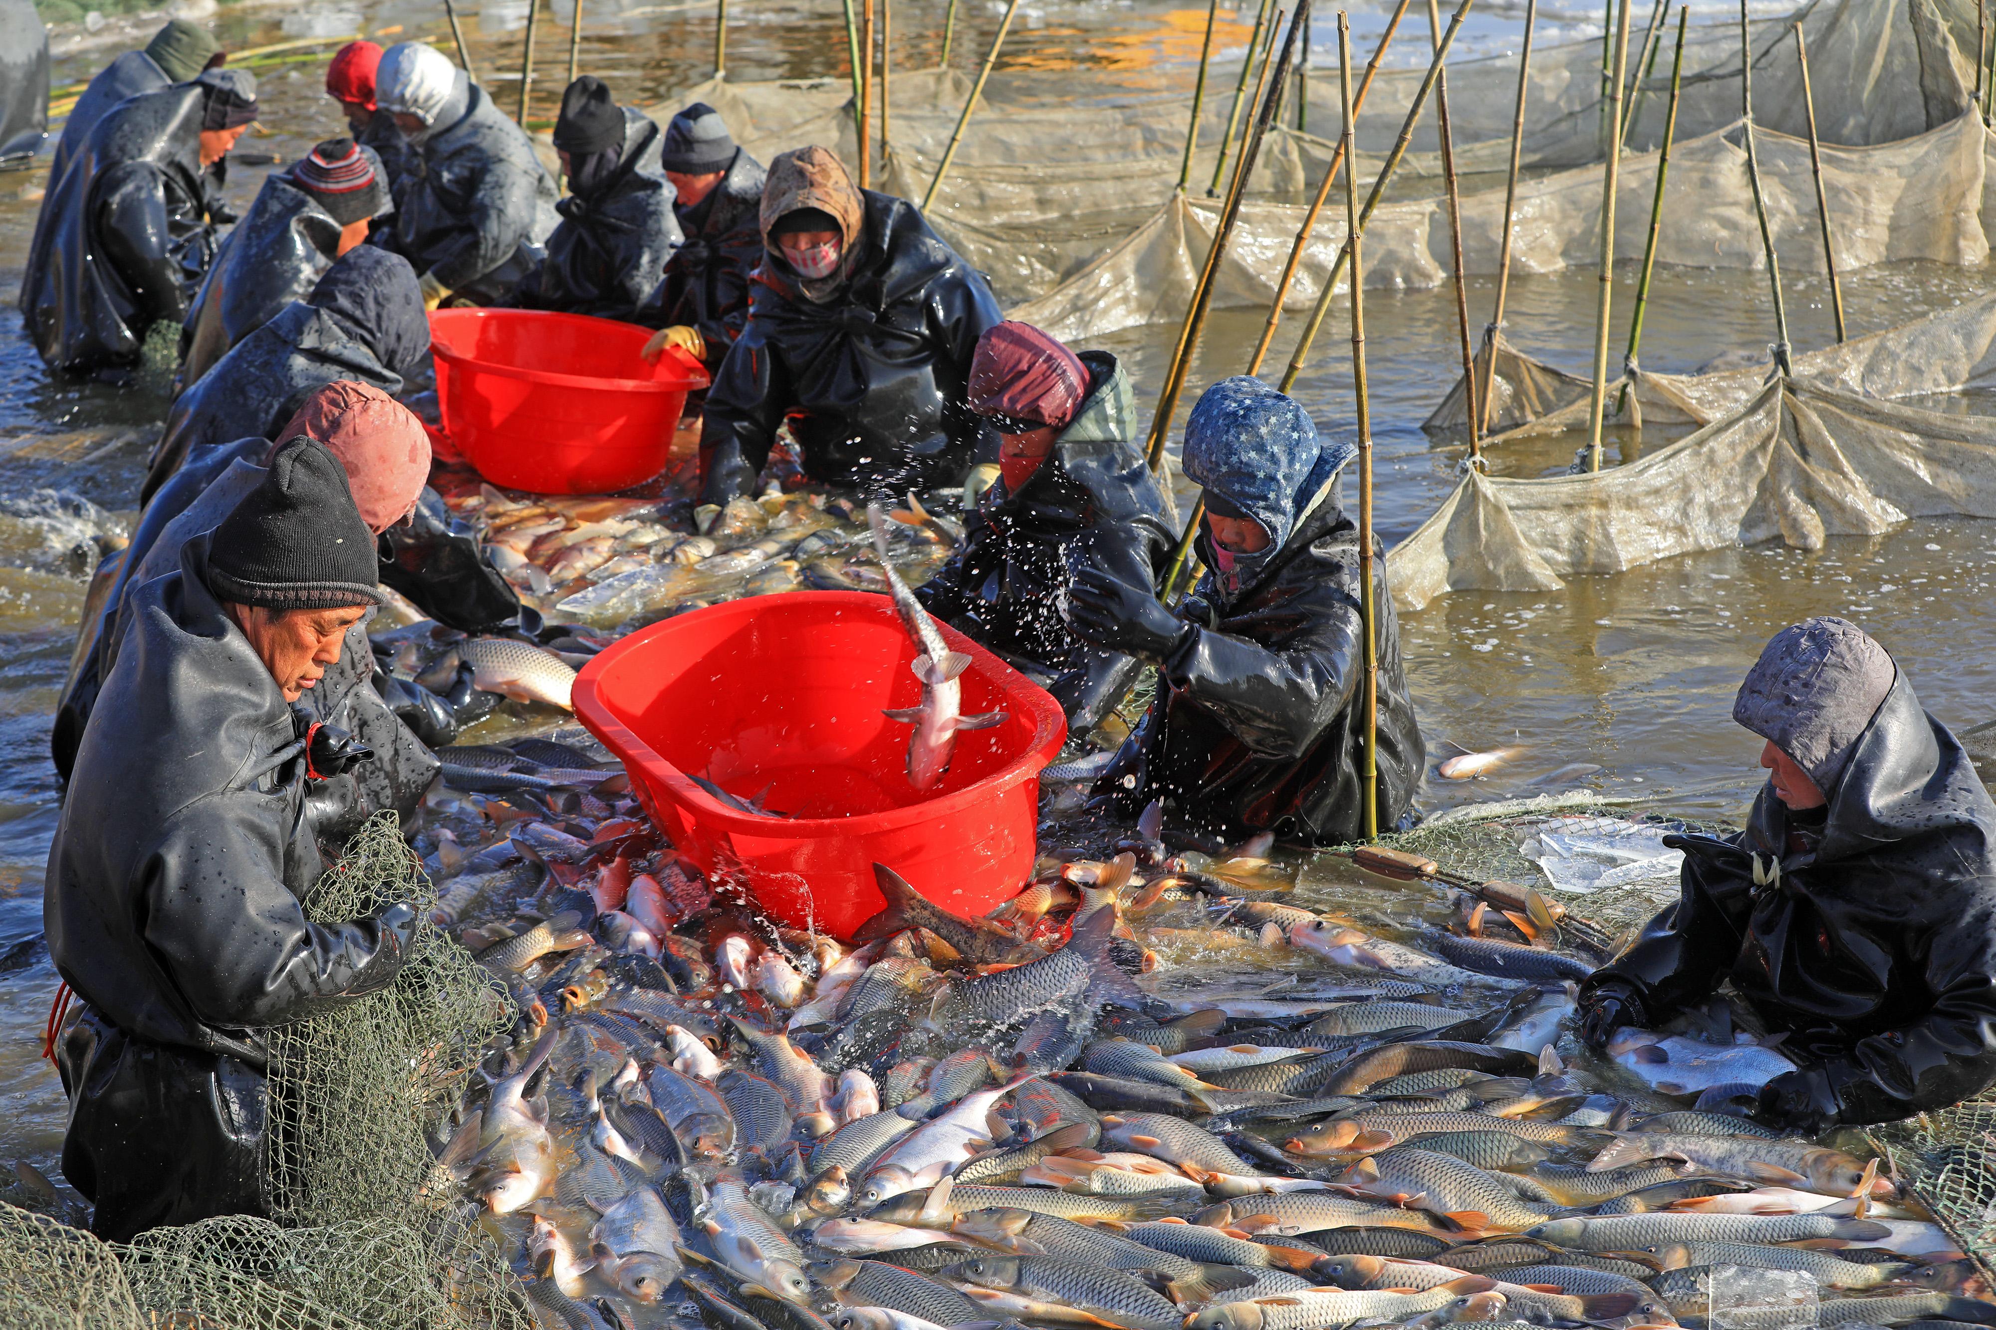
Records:
[[[1152,586],[1174,544],[1164,493],[1132,443],[1130,377],[1108,351],[1076,355],[1028,323],[998,323],[978,339],[968,401],[998,431],[1002,479],[916,598],[1038,674],[1086,734],[1144,662],[1078,640],[1060,600],[1078,568]]]

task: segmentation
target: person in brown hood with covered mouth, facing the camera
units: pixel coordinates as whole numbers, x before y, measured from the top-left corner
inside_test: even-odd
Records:
[[[770,164],[760,219],[748,323],[707,395],[703,502],[750,493],[782,425],[806,477],[868,495],[996,461],[964,389],[998,301],[922,213],[854,187],[828,148],[798,148]]]

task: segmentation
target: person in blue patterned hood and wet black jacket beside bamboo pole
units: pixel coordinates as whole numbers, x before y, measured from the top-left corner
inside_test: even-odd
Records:
[[[1208,572],[1178,608],[1150,582],[1080,568],[1074,632],[1160,670],[1158,700],[1096,780],[1136,814],[1164,798],[1202,835],[1257,831],[1335,845],[1365,831],[1365,630],[1357,526],[1337,502],[1345,441],[1257,379],[1222,379],[1186,421],[1186,475],[1204,487],[1196,540]],[[1407,696],[1399,626],[1373,558],[1377,820],[1411,810],[1427,754]]]

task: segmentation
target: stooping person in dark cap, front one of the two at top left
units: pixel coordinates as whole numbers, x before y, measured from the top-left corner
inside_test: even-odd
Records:
[[[42,199],[20,287],[50,369],[118,375],[182,323],[216,253],[204,173],[255,120],[255,78],[208,70],[118,104]]]

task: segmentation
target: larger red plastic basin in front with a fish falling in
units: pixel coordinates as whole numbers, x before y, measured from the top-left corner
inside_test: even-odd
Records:
[[[850,937],[882,907],[886,863],[930,901],[982,915],[1032,873],[1040,770],[1068,722],[1012,666],[938,624],[972,660],[948,774],[908,786],[914,644],[886,596],[800,590],[731,600],[631,634],[575,680],[575,716],[623,758],[639,800],[703,871],[743,879],[792,927]],[[687,776],[794,818],[721,804]],[[766,788],[766,796],[764,796]]]

